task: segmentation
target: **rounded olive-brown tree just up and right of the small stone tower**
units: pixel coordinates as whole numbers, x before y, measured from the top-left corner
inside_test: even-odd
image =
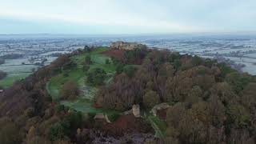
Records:
[[[153,90],[146,91],[143,95],[143,105],[147,108],[151,108],[160,102],[158,94]]]

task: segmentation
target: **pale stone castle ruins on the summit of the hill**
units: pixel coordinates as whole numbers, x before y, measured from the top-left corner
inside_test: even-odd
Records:
[[[122,41],[118,41],[118,42],[111,42],[110,44],[110,48],[112,49],[119,49],[119,50],[134,50],[136,48],[143,48],[146,47],[146,45],[142,45],[136,42],[122,42]]]

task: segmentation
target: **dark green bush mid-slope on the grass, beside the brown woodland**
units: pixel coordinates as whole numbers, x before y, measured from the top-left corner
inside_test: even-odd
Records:
[[[89,71],[86,81],[93,86],[99,86],[103,84],[105,78],[105,70],[102,70],[101,68],[95,68]]]

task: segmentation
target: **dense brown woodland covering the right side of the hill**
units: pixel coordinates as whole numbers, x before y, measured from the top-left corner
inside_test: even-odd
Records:
[[[256,78],[224,63],[167,50],[126,51],[98,105],[129,110],[167,102],[166,143],[254,143]]]

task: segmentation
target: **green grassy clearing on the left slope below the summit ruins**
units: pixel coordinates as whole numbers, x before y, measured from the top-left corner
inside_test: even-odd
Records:
[[[117,114],[116,111],[112,110],[102,110],[95,109],[92,104],[94,103],[95,94],[98,91],[98,87],[90,86],[86,84],[86,72],[82,70],[82,63],[84,62],[86,55],[90,54],[92,64],[90,65],[90,70],[96,67],[102,68],[107,73],[106,82],[110,82],[115,73],[115,66],[112,64],[110,60],[110,64],[106,64],[106,59],[109,58],[106,55],[101,54],[103,51],[108,50],[107,48],[98,48],[90,53],[83,53],[75,55],[71,58],[71,61],[77,64],[77,67],[74,69],[66,70],[62,72],[62,74],[58,74],[55,77],[51,78],[49,82],[46,84],[46,90],[53,98],[55,102],[58,102],[60,98],[59,90],[62,85],[68,81],[73,80],[78,83],[79,90],[81,94],[78,96],[76,100],[70,101],[62,101],[60,102],[64,106],[68,106],[74,110],[82,111],[84,113],[108,113],[108,114]],[[109,58],[110,59],[110,58]],[[68,76],[64,76],[63,73],[68,74]]]

